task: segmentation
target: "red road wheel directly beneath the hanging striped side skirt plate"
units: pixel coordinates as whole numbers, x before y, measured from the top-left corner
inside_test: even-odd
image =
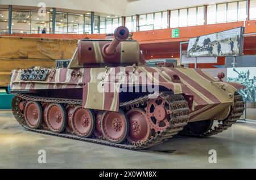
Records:
[[[105,112],[101,121],[104,137],[111,143],[122,143],[129,132],[129,122],[122,109],[119,112]]]

